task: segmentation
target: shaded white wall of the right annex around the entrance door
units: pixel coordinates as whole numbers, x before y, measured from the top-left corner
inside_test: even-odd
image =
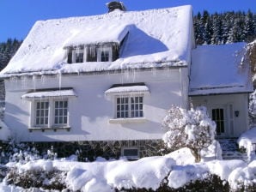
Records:
[[[209,115],[211,114],[211,109],[224,107],[226,111],[225,117],[227,122],[225,124],[225,127],[227,128],[227,132],[226,135],[223,136],[238,137],[241,135],[241,133],[248,129],[247,93],[194,96],[192,97],[192,105],[194,107],[199,105],[206,106]],[[232,111],[230,111],[230,105],[232,105]],[[235,117],[235,111],[239,111],[238,117]]]

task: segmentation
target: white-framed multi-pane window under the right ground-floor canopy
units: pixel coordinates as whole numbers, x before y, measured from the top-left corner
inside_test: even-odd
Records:
[[[117,97],[116,117],[143,117],[143,96]]]

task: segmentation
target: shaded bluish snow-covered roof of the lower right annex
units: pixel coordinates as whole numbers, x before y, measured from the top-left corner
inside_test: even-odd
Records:
[[[201,45],[192,51],[190,95],[253,91],[247,44]]]

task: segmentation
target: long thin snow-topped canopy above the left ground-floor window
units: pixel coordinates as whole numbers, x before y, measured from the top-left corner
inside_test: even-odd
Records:
[[[76,93],[73,89],[35,91],[23,94],[21,99],[47,99],[52,97],[76,97]]]

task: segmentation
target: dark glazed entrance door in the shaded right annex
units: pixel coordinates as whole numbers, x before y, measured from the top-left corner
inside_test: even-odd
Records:
[[[216,134],[221,135],[224,133],[224,110],[223,109],[213,109],[212,120],[216,122]]]

